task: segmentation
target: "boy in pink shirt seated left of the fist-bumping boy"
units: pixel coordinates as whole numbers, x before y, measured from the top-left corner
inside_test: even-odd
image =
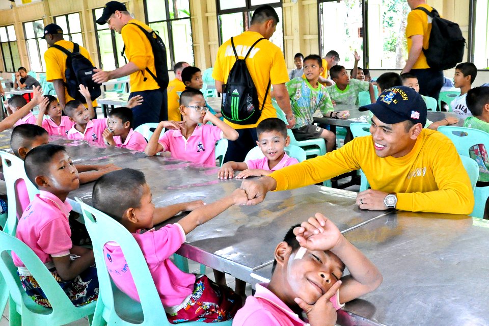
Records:
[[[42,145],[25,156],[25,173],[40,190],[22,214],[16,237],[27,244],[49,269],[75,306],[97,300],[98,279],[91,249],[73,246],[68,194],[79,186],[78,172],[63,146]],[[78,256],[72,260],[71,255]],[[44,292],[15,253],[25,292],[39,305],[50,307]]]

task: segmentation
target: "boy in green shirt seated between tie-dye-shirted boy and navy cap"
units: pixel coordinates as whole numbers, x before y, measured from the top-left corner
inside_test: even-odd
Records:
[[[330,75],[336,84],[326,89],[336,104],[358,105],[358,93],[362,91],[368,91],[370,93],[370,101],[372,103],[375,102],[373,85],[362,80],[350,79],[345,67],[334,66],[330,69]]]

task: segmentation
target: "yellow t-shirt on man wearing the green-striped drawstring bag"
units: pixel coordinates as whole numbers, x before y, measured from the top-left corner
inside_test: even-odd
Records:
[[[234,46],[239,58],[244,58],[248,52],[248,48],[253,45],[258,39],[263,36],[257,32],[247,31],[234,37]],[[231,40],[223,43],[218,50],[218,56],[214,63],[212,78],[226,84],[229,71],[233,67],[236,59],[234,57]],[[250,72],[253,83],[257,89],[258,102],[260,108],[265,97],[266,87],[271,80],[271,85],[284,84],[289,81],[287,66],[285,65],[284,55],[282,50],[268,40],[261,40],[252,49],[250,56],[246,59],[246,65]],[[234,129],[255,128],[260,121],[266,118],[276,118],[277,113],[271,105],[270,92],[266,95],[265,106],[261,113],[260,119],[256,124],[239,125],[224,121]]]

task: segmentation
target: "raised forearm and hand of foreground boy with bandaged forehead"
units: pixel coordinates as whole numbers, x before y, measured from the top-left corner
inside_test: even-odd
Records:
[[[294,234],[301,247],[329,250],[348,268],[350,275],[341,278],[340,303],[354,300],[381,285],[382,274],[377,267],[321,213],[295,228]]]

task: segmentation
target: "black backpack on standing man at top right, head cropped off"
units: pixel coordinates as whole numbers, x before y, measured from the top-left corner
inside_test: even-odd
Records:
[[[455,67],[464,59],[465,50],[465,39],[458,24],[441,18],[434,8],[431,12],[423,7],[416,9],[432,18],[428,48],[423,48],[428,66],[436,70]]]

